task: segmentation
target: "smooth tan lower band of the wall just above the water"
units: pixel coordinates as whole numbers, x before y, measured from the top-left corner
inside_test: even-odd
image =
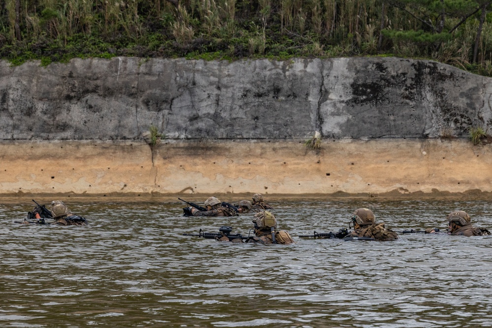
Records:
[[[3,141],[0,195],[488,194],[491,163],[467,140]]]

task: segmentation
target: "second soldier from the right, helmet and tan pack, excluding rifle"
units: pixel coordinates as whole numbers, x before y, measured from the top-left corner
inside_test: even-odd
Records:
[[[370,237],[378,241],[398,239],[396,232],[384,227],[384,223],[374,223],[375,216],[370,209],[356,209],[352,216],[354,231],[347,237]]]

